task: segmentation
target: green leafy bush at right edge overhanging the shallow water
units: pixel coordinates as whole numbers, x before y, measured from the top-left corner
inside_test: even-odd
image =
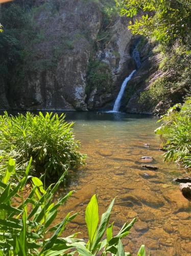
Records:
[[[183,105],[174,105],[159,121],[163,123],[155,132],[166,148],[164,160],[191,168],[191,97]]]

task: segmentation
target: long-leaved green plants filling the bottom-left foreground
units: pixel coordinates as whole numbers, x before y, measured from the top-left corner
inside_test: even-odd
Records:
[[[113,223],[108,226],[114,200],[107,211],[102,215],[98,227],[98,202],[94,195],[85,212],[85,220],[88,228],[89,241],[77,239],[77,233],[69,237],[61,237],[68,222],[72,221],[77,214],[66,217],[52,227],[58,208],[73,194],[70,191],[66,196],[53,203],[53,196],[65,173],[55,185],[50,185],[46,190],[40,179],[29,175],[31,160],[26,168],[24,177],[15,185],[10,176],[15,173],[15,161],[9,160],[8,169],[2,181],[0,181],[0,253],[1,255],[112,255],[125,256],[122,238],[126,237],[136,219],[130,224],[125,223],[120,232],[113,236]],[[28,197],[24,196],[25,185],[31,181],[31,189]],[[20,203],[16,208],[13,199],[17,198]],[[32,207],[31,207],[32,206]],[[106,232],[107,238],[102,240]],[[50,238],[47,238],[50,237]],[[142,245],[137,254],[146,256],[145,246]]]

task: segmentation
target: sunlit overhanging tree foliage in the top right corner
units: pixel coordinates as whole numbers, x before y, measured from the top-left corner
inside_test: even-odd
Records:
[[[136,16],[129,29],[133,34],[155,37],[158,41],[186,43],[190,40],[191,3],[189,0],[116,0],[122,15]],[[140,13],[144,15],[140,16]]]

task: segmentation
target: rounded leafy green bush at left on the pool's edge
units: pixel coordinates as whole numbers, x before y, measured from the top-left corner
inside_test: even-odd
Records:
[[[1,166],[11,157],[24,169],[33,157],[33,173],[39,176],[45,170],[47,177],[54,177],[83,164],[85,155],[78,152],[80,143],[74,139],[72,126],[63,114],[27,112],[14,117],[5,112],[0,116]]]

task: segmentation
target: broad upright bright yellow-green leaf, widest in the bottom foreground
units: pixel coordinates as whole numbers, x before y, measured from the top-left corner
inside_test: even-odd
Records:
[[[90,202],[88,203],[85,211],[85,221],[88,229],[90,247],[96,237],[99,214],[98,214],[98,202],[96,195],[93,195]]]

